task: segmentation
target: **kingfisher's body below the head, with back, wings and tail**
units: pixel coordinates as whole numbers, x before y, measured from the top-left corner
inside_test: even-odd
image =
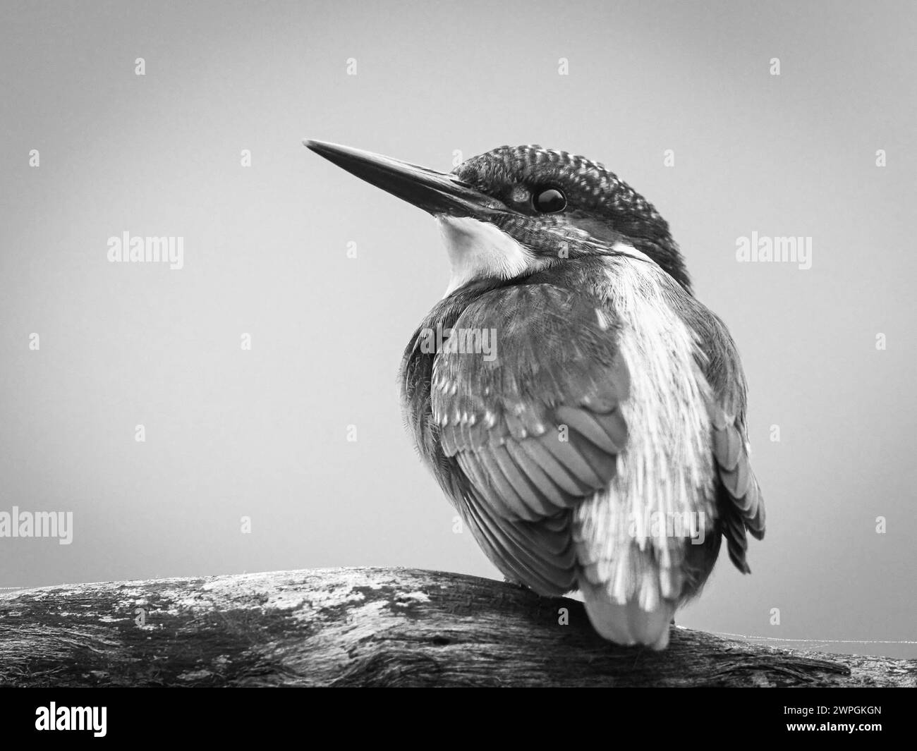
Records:
[[[600,634],[662,647],[721,534],[745,570],[745,528],[763,533],[741,366],[724,326],[655,264],[562,268],[437,305],[405,353],[405,414],[505,576],[579,588]],[[436,326],[492,331],[496,356],[422,351]],[[723,359],[732,377],[712,368]]]

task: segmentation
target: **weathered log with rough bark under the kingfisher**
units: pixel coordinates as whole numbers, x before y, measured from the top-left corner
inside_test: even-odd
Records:
[[[685,628],[656,653],[602,641],[580,602],[512,584],[324,569],[2,594],[0,685],[914,686],[917,660]]]

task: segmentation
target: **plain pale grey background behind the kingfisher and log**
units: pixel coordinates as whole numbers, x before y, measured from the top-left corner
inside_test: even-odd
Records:
[[[905,2],[5,2],[0,511],[74,536],[0,538],[0,587],[497,576],[399,414],[436,226],[300,141],[441,170],[541,143],[656,204],[743,355],[768,537],[679,623],[917,657],[826,643],[917,640],[915,38]],[[184,268],[109,263],[125,231],[183,237]],[[812,237],[812,268],[737,263],[753,231]]]

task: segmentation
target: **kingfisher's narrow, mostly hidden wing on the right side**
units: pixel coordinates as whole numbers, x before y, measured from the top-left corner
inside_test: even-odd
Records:
[[[693,325],[701,334],[705,356],[702,366],[712,392],[708,412],[713,429],[713,458],[720,479],[717,513],[729,558],[737,569],[748,573],[746,530],[763,539],[765,511],[764,496],[751,468],[745,374],[735,342],[716,315],[702,308]]]

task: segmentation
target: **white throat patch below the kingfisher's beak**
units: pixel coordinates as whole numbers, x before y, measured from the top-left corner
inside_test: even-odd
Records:
[[[544,263],[490,222],[469,216],[436,216],[452,273],[447,296],[473,279],[512,279]]]

